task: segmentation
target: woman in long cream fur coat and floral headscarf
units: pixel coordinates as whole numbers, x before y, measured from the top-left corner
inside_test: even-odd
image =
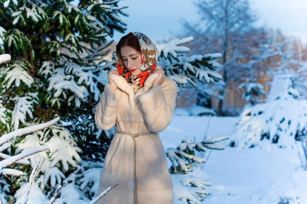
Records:
[[[102,130],[116,124],[107,151],[98,195],[115,188],[98,203],[173,203],[173,184],[158,135],[176,107],[177,83],[157,64],[158,50],[142,33],[129,33],[116,46],[117,68],[108,74],[96,107]]]

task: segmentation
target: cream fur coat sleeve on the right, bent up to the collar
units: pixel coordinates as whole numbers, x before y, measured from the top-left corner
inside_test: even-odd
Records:
[[[173,80],[163,82],[142,93],[139,97],[144,118],[151,132],[162,132],[171,122],[176,107],[177,83]]]

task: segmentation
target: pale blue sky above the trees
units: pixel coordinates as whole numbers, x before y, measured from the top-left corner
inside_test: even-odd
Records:
[[[218,0],[217,0],[218,1]],[[121,18],[127,23],[128,32],[141,32],[154,42],[168,39],[182,30],[180,19],[197,22],[199,13],[194,0],[122,0],[119,6],[128,5],[124,11],[129,17]],[[252,10],[258,15],[257,25],[281,29],[284,34],[301,38],[307,43],[307,0],[250,0]],[[291,3],[290,3],[291,2]],[[118,41],[125,34],[114,35]]]

